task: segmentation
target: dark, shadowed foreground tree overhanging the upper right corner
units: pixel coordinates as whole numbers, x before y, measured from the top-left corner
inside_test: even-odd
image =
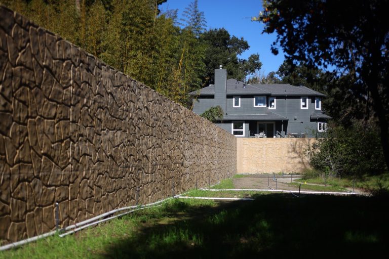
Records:
[[[269,0],[254,20],[265,24],[263,32],[277,32],[274,54],[279,45],[288,60],[310,67],[333,65],[355,77],[349,90],[372,105],[389,166],[387,10],[388,0]]]

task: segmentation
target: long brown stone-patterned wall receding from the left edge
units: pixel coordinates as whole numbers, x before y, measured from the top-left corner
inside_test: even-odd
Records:
[[[0,7],[3,244],[236,172],[236,139]]]

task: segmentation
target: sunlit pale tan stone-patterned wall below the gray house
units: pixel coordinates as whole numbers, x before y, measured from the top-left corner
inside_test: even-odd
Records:
[[[238,173],[302,172],[312,138],[237,138]]]

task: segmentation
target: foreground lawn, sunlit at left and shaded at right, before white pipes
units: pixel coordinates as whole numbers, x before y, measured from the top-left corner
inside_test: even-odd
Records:
[[[373,257],[387,254],[387,197],[256,195],[255,201],[172,199],[1,258]]]

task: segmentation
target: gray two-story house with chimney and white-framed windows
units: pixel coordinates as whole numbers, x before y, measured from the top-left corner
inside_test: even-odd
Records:
[[[193,112],[220,106],[218,126],[237,137],[314,137],[326,131],[324,94],[290,84],[246,84],[227,80],[226,69],[215,69],[215,84],[190,93]]]

